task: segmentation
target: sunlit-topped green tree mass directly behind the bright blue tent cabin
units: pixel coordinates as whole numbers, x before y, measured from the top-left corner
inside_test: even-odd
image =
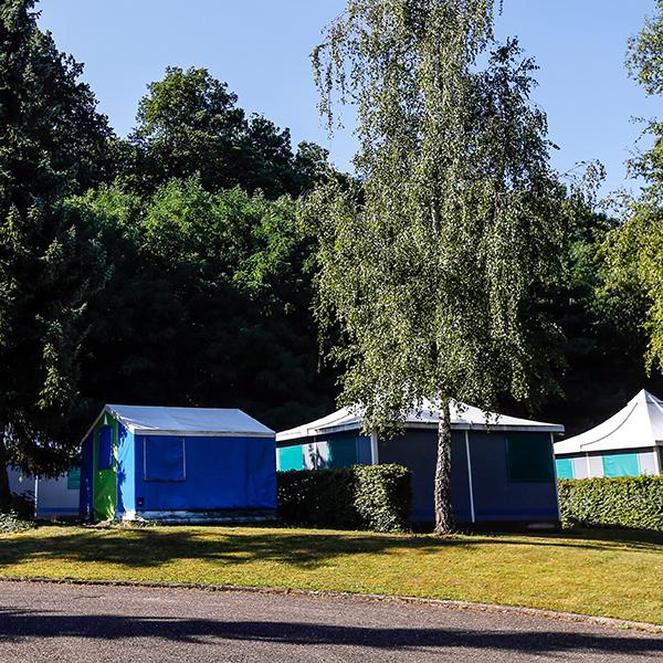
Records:
[[[103,224],[115,265],[91,312],[88,398],[241,407],[274,427],[323,413],[313,244],[291,198],[213,194],[193,178],[146,201],[105,188],[72,204]]]

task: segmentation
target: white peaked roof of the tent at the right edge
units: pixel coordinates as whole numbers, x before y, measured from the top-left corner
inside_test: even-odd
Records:
[[[596,428],[555,444],[557,455],[663,445],[663,401],[644,389]]]

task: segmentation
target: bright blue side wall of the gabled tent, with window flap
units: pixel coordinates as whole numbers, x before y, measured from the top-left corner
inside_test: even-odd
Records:
[[[183,475],[177,441],[183,441]],[[136,511],[276,508],[275,459],[273,438],[138,434]]]

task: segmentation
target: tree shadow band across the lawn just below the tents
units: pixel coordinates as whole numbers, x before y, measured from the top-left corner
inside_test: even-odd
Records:
[[[66,532],[66,530],[65,530]],[[179,559],[229,564],[274,561],[311,569],[337,557],[359,554],[435,554],[444,548],[549,546],[663,552],[663,533],[583,530],[571,534],[380,536],[365,533],[225,527],[155,527],[136,529],[72,528],[63,534],[39,528],[0,545],[0,570],[25,561],[104,562],[129,569],[159,567]],[[557,552],[555,552],[557,554]]]

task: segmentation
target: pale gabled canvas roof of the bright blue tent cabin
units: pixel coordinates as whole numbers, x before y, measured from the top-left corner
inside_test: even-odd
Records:
[[[143,435],[274,435],[273,430],[235,409],[106,406],[103,412]]]

